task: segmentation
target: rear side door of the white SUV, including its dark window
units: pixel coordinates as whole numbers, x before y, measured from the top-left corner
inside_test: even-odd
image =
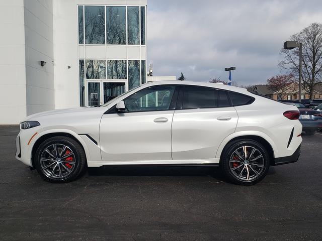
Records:
[[[173,160],[212,159],[235,131],[237,112],[223,90],[183,86],[172,123]]]

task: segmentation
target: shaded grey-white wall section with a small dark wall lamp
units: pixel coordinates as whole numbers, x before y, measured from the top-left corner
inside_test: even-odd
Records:
[[[27,115],[55,108],[52,6],[52,0],[24,1]]]

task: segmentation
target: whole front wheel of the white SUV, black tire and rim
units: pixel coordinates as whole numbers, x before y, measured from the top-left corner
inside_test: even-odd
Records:
[[[83,147],[75,140],[64,136],[45,140],[37,148],[34,157],[34,164],[38,173],[43,179],[53,183],[75,180],[78,176],[84,174],[86,163]]]

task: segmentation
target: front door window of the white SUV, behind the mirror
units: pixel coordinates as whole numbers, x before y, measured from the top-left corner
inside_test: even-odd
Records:
[[[142,89],[124,99],[128,112],[168,110],[175,86],[159,85]]]

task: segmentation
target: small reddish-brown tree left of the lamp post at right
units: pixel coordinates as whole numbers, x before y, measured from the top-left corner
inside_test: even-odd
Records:
[[[283,74],[269,78],[266,85],[268,89],[276,92],[280,99],[283,99],[286,92],[294,91],[294,82],[295,80],[292,74]]]

